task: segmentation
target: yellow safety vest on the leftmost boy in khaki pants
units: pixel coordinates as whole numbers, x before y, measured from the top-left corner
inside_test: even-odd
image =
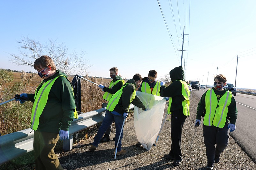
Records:
[[[63,76],[63,75],[60,75]],[[59,76],[55,77],[54,79],[48,80],[46,81],[41,88],[38,90],[35,90],[35,102],[32,108],[32,114],[31,114],[31,128],[36,131],[39,125],[39,117],[41,116],[43,109],[47,103],[48,100],[48,95],[49,92],[51,90],[52,85],[54,84],[54,82],[56,81],[56,79]],[[65,76],[63,76],[65,77]],[[66,78],[66,77],[65,77]],[[68,80],[68,79],[67,79]],[[38,87],[37,87],[38,88]],[[73,89],[73,88],[72,88]],[[73,92],[74,95],[74,92]],[[74,118],[77,119],[77,111],[75,110],[74,112]]]

